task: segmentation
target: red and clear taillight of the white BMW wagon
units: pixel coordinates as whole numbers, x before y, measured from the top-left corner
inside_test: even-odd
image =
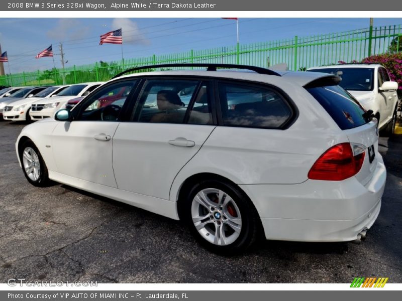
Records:
[[[332,146],[314,163],[309,179],[342,181],[356,175],[364,161],[366,148],[357,143],[340,143]]]

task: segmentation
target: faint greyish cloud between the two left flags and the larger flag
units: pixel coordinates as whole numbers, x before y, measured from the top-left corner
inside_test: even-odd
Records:
[[[49,30],[46,36],[49,39],[58,41],[82,39],[87,37],[90,28],[83,26],[77,19],[63,18],[59,19],[55,28]]]

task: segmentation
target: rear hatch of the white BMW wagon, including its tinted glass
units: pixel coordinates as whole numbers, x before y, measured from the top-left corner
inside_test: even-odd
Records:
[[[355,177],[362,185],[366,185],[373,177],[378,162],[377,120],[336,82],[313,82],[305,88],[347,135],[353,152],[364,152],[363,164]]]

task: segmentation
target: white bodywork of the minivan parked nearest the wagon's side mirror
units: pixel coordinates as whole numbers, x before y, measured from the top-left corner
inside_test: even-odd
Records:
[[[77,85],[85,85],[85,87],[77,95],[65,95],[65,96],[63,95],[63,96],[54,96],[48,99],[39,99],[31,104],[31,110],[29,111],[29,115],[31,116],[32,120],[40,120],[43,118],[53,117],[54,114],[59,109],[65,107],[66,103],[70,99],[82,96],[87,90],[90,90],[92,87],[102,85],[103,83],[104,82],[81,83]],[[43,108],[43,106],[45,105],[52,105],[52,106],[48,108]]]

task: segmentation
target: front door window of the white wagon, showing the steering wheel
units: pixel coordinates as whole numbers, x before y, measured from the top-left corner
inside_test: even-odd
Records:
[[[120,120],[123,105],[135,86],[135,80],[119,81],[93,92],[85,98],[77,120]]]

